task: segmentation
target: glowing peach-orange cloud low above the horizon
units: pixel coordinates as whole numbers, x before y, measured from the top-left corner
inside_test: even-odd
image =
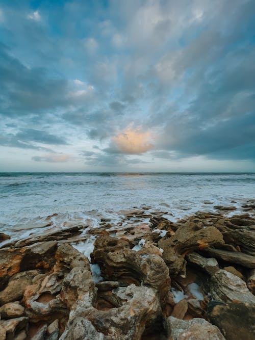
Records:
[[[129,154],[138,154],[150,150],[152,148],[150,140],[149,132],[142,132],[138,129],[127,129],[112,138],[114,146],[119,151]]]

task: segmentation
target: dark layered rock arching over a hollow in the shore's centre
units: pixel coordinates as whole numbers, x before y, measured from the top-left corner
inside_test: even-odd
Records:
[[[170,289],[170,277],[163,259],[157,255],[139,254],[130,248],[125,240],[98,238],[91,254],[92,263],[100,266],[101,276],[105,279],[151,286],[164,299]]]

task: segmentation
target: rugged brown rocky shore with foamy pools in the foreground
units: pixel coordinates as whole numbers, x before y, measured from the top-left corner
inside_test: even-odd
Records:
[[[243,208],[0,234],[0,340],[254,340],[254,201]]]

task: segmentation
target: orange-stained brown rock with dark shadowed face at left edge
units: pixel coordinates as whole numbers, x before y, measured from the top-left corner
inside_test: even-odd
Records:
[[[3,290],[11,276],[16,273],[55,264],[56,241],[36,243],[32,246],[0,249],[0,290]]]

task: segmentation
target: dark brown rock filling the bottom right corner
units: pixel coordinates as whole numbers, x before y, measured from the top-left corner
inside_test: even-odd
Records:
[[[210,302],[208,318],[226,340],[254,340],[255,304]]]

